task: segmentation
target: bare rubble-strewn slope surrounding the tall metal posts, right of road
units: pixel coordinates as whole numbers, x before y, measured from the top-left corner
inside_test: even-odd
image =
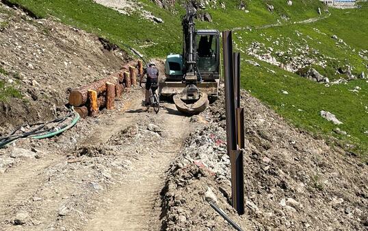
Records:
[[[202,121],[172,164],[163,189],[166,230],[233,230],[205,201],[244,230],[367,230],[368,167],[331,148],[242,93],[246,214],[231,208],[223,97],[192,121]]]

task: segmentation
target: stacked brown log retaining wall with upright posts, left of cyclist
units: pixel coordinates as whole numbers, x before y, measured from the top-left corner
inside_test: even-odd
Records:
[[[122,97],[122,93],[129,92],[129,88],[137,84],[137,75],[141,75],[142,71],[142,61],[129,62],[109,77],[72,90],[69,104],[74,106],[82,118],[88,115],[94,117],[103,108],[113,110],[115,99]]]

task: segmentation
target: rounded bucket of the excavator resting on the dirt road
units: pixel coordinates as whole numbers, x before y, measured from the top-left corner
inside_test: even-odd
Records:
[[[186,93],[174,95],[174,104],[184,114],[199,114],[209,106],[207,94],[199,93],[199,99],[187,99]]]

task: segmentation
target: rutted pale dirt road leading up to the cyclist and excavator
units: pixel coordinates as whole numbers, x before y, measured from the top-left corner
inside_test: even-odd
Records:
[[[60,137],[10,147],[40,155],[0,175],[0,230],[160,230],[165,172],[191,129],[174,105],[156,115],[141,98],[133,90]]]

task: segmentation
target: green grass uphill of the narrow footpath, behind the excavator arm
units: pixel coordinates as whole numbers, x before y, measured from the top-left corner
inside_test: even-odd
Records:
[[[181,14],[185,11],[176,3],[172,13],[169,10],[163,10],[155,3],[149,0],[141,0],[144,3],[144,9],[153,13],[153,15],[163,19],[165,23],[157,24],[140,16],[133,14],[131,16],[120,14],[115,10],[105,8],[103,5],[94,3],[92,0],[9,0],[12,3],[18,3],[27,10],[36,14],[40,18],[55,16],[67,25],[72,25],[85,29],[88,32],[98,34],[103,38],[109,39],[116,45],[126,49],[124,45],[129,45],[137,49],[147,57],[166,57],[169,53],[181,52]],[[302,0],[295,3],[292,7],[287,7],[284,1],[272,1],[276,6],[280,5],[275,12],[269,12],[266,7],[266,1],[250,2],[246,14],[239,10],[240,1],[226,1],[226,11],[219,9],[220,3],[215,5],[215,9],[210,8],[213,23],[198,22],[199,27],[211,27],[217,29],[226,29],[233,27],[246,27],[248,25],[264,25],[267,23],[276,23],[280,14],[287,14],[291,19],[307,19],[310,16],[317,16],[317,7],[322,6],[316,0]],[[306,8],[311,3],[313,7]],[[291,12],[298,14],[292,14]],[[233,15],[229,17],[229,15]],[[244,17],[244,18],[243,18]],[[155,45],[141,48],[149,44]]]

